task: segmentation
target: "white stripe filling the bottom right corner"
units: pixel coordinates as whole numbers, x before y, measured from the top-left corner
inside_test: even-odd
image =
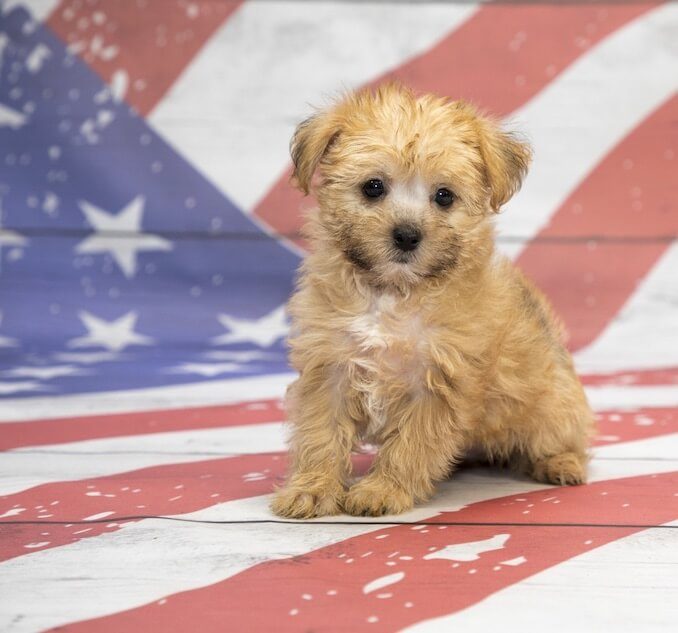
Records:
[[[646,530],[575,556],[459,613],[404,630],[487,633],[501,622],[502,633],[675,631],[677,567],[678,529]]]

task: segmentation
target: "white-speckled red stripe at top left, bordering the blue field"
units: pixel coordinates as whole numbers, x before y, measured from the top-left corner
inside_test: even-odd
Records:
[[[62,0],[47,24],[106,83],[115,72],[126,73],[125,100],[147,114],[240,4]]]

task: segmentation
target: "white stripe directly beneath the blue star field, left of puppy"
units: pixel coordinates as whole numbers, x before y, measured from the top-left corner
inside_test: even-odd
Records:
[[[49,418],[185,409],[281,398],[294,380],[291,373],[258,378],[212,380],[151,389],[108,391],[76,396],[0,400],[0,423]]]

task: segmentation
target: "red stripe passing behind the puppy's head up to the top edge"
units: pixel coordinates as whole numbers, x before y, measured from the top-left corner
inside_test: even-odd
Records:
[[[470,99],[495,114],[508,114],[593,45],[655,6],[484,6],[430,51],[387,77],[421,92]],[[314,203],[292,189],[290,174],[289,169],[285,171],[254,214],[303,247],[303,240],[296,236],[302,223],[300,209]]]

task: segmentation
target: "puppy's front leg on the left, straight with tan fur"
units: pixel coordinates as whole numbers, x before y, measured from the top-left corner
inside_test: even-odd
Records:
[[[314,368],[288,389],[290,475],[271,503],[280,516],[309,519],[341,512],[355,425],[348,415],[350,394],[341,393],[331,378],[331,370]]]

